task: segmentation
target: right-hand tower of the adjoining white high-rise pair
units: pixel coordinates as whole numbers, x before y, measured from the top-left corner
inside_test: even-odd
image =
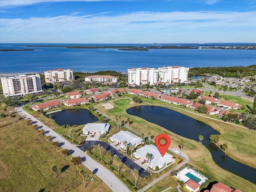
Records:
[[[187,67],[161,67],[158,68],[159,82],[162,84],[184,83],[188,81]]]

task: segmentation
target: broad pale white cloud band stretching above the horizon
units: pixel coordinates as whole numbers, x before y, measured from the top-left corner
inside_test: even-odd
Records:
[[[109,15],[103,12],[93,15],[62,15],[28,19],[0,19],[0,40],[10,42],[16,36],[22,39],[33,37],[34,42],[92,41],[104,43],[144,41],[166,42],[174,35],[177,39],[200,36],[229,37],[244,30],[246,38],[255,42],[256,12],[131,12]],[[205,34],[204,34],[205,33]],[[221,35],[220,35],[221,34]],[[194,37],[193,37],[194,38]],[[217,37],[215,37],[217,38]],[[236,38],[244,38],[236,36]],[[34,40],[37,39],[37,40]],[[194,40],[195,41],[195,40]],[[206,42],[206,40],[202,40]],[[227,40],[228,41],[228,40]],[[170,42],[170,41],[169,41]],[[198,41],[200,42],[200,41]]]

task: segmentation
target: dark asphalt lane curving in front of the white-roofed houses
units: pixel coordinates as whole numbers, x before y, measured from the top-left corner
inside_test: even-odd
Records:
[[[135,162],[133,162],[132,160],[130,160],[129,158],[127,158],[125,155],[123,155],[121,152],[119,152],[118,150],[116,150],[114,147],[112,147],[110,144],[106,143],[106,142],[102,142],[102,141],[86,141],[83,145],[78,146],[78,148],[80,148],[82,151],[86,152],[86,150],[88,148],[90,148],[90,146],[97,146],[98,144],[101,144],[102,147],[105,150],[109,150],[112,154],[116,154],[120,157],[120,161],[125,164],[127,167],[130,167],[131,170],[134,170],[134,168],[136,168],[137,170],[139,170],[139,175],[142,178],[145,178],[146,176],[149,176],[150,173],[147,172],[146,170],[144,170],[144,168],[142,168],[141,166],[139,166],[138,164],[136,164]],[[104,153],[102,153],[102,156],[104,155]],[[121,166],[119,166],[119,168],[121,169]]]

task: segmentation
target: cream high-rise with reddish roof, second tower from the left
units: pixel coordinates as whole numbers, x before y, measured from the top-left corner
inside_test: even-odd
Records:
[[[60,83],[72,81],[74,79],[72,69],[57,69],[44,71],[46,83]]]

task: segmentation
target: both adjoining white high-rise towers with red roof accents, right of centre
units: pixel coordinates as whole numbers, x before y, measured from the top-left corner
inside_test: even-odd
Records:
[[[188,81],[187,67],[162,67],[162,68],[132,68],[128,69],[129,86],[141,86],[144,84],[172,84]]]

